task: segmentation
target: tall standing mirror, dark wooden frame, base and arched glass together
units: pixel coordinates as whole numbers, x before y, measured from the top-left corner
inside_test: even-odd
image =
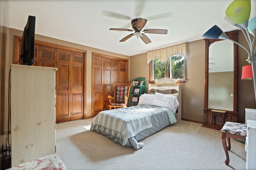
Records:
[[[238,31],[226,34],[238,42]],[[203,127],[220,130],[237,122],[238,45],[230,40],[204,39],[205,90]]]

